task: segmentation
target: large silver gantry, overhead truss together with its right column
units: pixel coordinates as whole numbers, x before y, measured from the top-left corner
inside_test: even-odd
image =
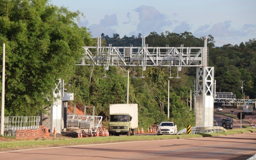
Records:
[[[145,36],[141,47],[114,47],[111,44],[101,46],[98,37],[97,46],[83,46],[84,55],[76,65],[79,66],[134,66],[177,67],[177,77],[182,67],[196,67],[195,113],[196,126],[213,126],[214,103],[214,67],[208,67],[207,37],[204,47],[148,47]],[[172,78],[170,76],[170,78]]]

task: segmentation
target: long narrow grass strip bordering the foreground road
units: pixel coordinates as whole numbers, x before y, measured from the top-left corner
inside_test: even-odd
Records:
[[[104,144],[104,143],[117,143],[128,141],[148,141],[148,140],[175,140],[175,139],[188,139],[188,138],[200,138],[200,137],[214,137],[235,135],[241,133],[256,132],[255,128],[246,129],[233,129],[228,132],[221,133],[204,133],[204,134],[180,134],[180,135],[141,135],[141,136],[112,136],[112,137],[92,137],[92,138],[53,138],[53,139],[41,139],[36,140],[12,140],[4,141],[0,143],[0,151],[11,151],[20,149],[31,148],[46,148],[46,147],[60,147],[60,146],[76,146],[76,145],[88,145],[88,144]]]

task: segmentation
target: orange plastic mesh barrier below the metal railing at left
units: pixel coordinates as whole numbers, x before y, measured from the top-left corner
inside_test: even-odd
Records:
[[[50,138],[48,128],[17,130],[16,139]]]

